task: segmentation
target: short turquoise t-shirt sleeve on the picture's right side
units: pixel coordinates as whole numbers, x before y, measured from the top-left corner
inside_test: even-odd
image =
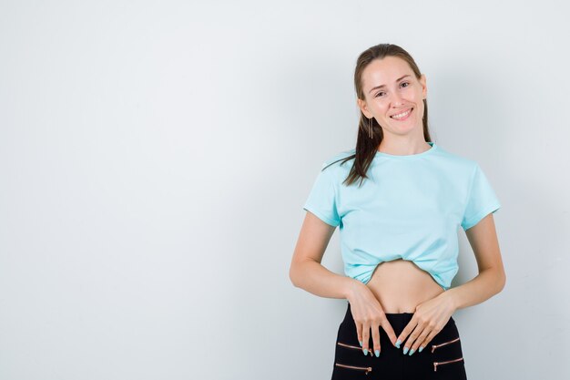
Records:
[[[483,173],[479,164],[475,164],[473,178],[467,198],[467,205],[463,212],[461,226],[463,231],[470,229],[491,212],[501,208],[501,203],[493,190],[493,187]]]

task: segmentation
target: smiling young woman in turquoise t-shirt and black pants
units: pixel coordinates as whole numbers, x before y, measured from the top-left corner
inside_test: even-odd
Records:
[[[290,266],[291,282],[343,298],[332,379],[466,379],[452,314],[504,288],[493,213],[478,163],[431,141],[425,76],[400,46],[372,46],[354,73],[356,148],[322,165]],[[335,228],[345,276],[321,265]],[[451,288],[463,228],[479,274]]]

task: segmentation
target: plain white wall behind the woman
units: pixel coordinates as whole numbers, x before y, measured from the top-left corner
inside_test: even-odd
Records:
[[[506,287],[454,314],[470,380],[570,378],[562,4],[0,2],[0,378],[330,378],[346,301],[290,258],[386,42],[503,204]]]

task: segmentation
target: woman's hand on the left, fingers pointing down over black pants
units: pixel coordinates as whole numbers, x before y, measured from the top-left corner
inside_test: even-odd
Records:
[[[347,299],[351,303],[352,319],[354,319],[356,324],[356,333],[364,354],[368,354],[370,332],[372,330],[374,354],[376,357],[380,355],[380,326],[388,334],[392,344],[395,345],[396,334],[392,329],[392,324],[386,318],[382,305],[368,286],[358,280],[354,280]]]

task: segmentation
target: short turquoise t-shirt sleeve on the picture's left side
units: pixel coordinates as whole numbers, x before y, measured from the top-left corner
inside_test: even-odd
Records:
[[[337,211],[336,190],[333,180],[332,167],[326,167],[327,163],[323,163],[321,171],[314,180],[309,197],[303,205],[303,210],[310,211],[315,214],[321,221],[337,227],[341,224],[341,218]]]

